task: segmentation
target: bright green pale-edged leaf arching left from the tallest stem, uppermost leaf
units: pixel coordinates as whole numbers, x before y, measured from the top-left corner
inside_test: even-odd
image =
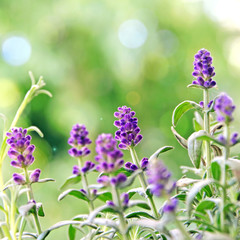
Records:
[[[177,105],[177,107],[173,111],[172,115],[172,125],[176,127],[179,119],[190,109],[195,108],[196,110],[201,110],[202,108],[199,106],[199,104],[193,102],[193,101],[184,101]]]

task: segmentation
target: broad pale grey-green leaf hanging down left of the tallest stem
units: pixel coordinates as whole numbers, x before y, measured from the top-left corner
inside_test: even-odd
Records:
[[[188,138],[188,156],[190,157],[194,167],[199,168],[202,155],[202,141],[198,140],[199,136],[205,134],[205,131],[200,130],[194,132]]]

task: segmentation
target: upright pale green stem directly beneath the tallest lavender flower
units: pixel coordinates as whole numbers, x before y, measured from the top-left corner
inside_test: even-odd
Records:
[[[208,89],[203,90],[203,105],[204,105],[204,131],[207,134],[210,133],[210,121],[209,121],[209,92]],[[207,168],[207,177],[211,178],[211,151],[210,151],[210,142],[205,141],[205,157],[206,157],[206,168]]]

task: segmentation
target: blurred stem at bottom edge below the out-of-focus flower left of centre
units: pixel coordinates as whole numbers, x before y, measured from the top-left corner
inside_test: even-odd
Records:
[[[118,211],[118,216],[119,216],[119,221],[120,221],[120,229],[121,229],[121,234],[123,236],[124,240],[129,240],[128,235],[127,235],[127,224],[123,216],[123,209],[122,209],[122,204],[120,200],[120,195],[119,191],[116,188],[115,185],[112,185],[112,195],[113,195],[113,202],[118,206],[119,211]]]

